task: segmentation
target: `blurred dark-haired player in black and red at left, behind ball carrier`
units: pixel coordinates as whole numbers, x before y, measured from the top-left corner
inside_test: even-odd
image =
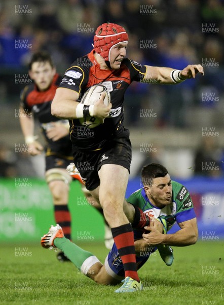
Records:
[[[64,231],[66,238],[71,239],[71,215],[68,208],[69,184],[72,180],[66,167],[73,160],[68,120],[61,120],[51,114],[51,103],[61,77],[56,73],[52,58],[48,52],[34,53],[29,63],[29,76],[33,84],[24,88],[21,94],[20,125],[25,142],[32,156],[40,155],[44,147],[36,141],[34,136],[34,115],[38,118],[46,141],[46,181],[53,196],[55,221]],[[74,169],[73,169],[74,171]],[[73,173],[73,178],[80,180],[79,172]],[[97,205],[90,193],[83,187],[91,205]],[[100,210],[100,208],[98,208]],[[102,209],[101,209],[102,211]],[[111,246],[113,238],[108,236],[107,248]],[[108,245],[109,243],[109,245]],[[58,259],[66,261],[63,253]]]

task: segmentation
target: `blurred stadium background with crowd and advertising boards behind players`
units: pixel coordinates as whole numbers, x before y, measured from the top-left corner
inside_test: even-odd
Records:
[[[35,51],[48,50],[63,74],[74,59],[92,49],[96,27],[106,21],[125,26],[130,37],[127,56],[137,62],[176,69],[201,63],[205,70],[204,77],[177,86],[130,86],[125,119],[133,161],[127,196],[141,187],[142,164],[160,162],[192,194],[199,238],[224,237],[223,14],[219,0],[1,2],[2,241],[17,246],[20,241],[38,241],[53,223],[44,158],[28,157],[19,126],[20,91],[30,83],[29,58]],[[70,194],[73,240],[102,240],[103,221],[78,183],[72,184]]]

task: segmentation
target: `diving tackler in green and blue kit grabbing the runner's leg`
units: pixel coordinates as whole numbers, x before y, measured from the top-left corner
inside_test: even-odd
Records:
[[[193,202],[188,190],[178,182],[171,181],[167,169],[160,164],[152,163],[143,167],[141,177],[143,188],[127,199],[132,211],[133,207],[141,208],[151,218],[150,226],[145,227],[150,233],[142,234],[142,230],[134,229],[137,269],[157,249],[166,265],[170,266],[173,255],[170,247],[166,249],[167,245],[183,247],[197,241],[198,228]],[[176,222],[180,230],[166,234]],[[118,284],[124,279],[124,265],[115,244],[104,265],[92,253],[63,237],[60,226],[52,226],[48,234],[42,237],[41,244],[44,248],[54,247],[64,251],[84,275],[98,284]],[[123,291],[118,289],[116,292]]]

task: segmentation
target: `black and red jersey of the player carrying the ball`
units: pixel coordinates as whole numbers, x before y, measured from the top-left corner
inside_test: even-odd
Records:
[[[110,92],[112,109],[109,117],[98,127],[88,130],[81,126],[79,119],[70,121],[71,140],[77,150],[95,150],[101,148],[106,140],[122,136],[124,130],[124,94],[132,81],[144,78],[146,67],[124,58],[118,70],[102,70],[96,62],[94,52],[78,58],[65,72],[59,87],[68,88],[79,94],[81,101],[88,88],[103,84]],[[138,101],[136,101],[137,103]]]

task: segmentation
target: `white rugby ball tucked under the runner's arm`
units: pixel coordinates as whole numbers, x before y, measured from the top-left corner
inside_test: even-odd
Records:
[[[80,103],[84,105],[94,105],[101,97],[101,95],[105,93],[105,98],[103,100],[104,105],[108,106],[110,103],[110,94],[108,89],[103,85],[94,85],[90,87],[84,94]],[[95,128],[99,126],[100,120],[94,116],[88,116],[86,118],[82,117],[79,119],[82,126],[87,128]]]

